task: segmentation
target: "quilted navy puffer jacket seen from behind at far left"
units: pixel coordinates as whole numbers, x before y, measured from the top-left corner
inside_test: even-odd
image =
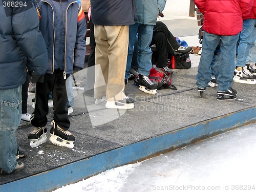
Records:
[[[6,1],[8,2],[8,1]],[[39,19],[31,1],[26,6],[0,5],[0,89],[12,89],[23,84],[27,70],[44,75],[47,70],[47,50],[39,31]],[[27,63],[28,59],[28,63]]]

